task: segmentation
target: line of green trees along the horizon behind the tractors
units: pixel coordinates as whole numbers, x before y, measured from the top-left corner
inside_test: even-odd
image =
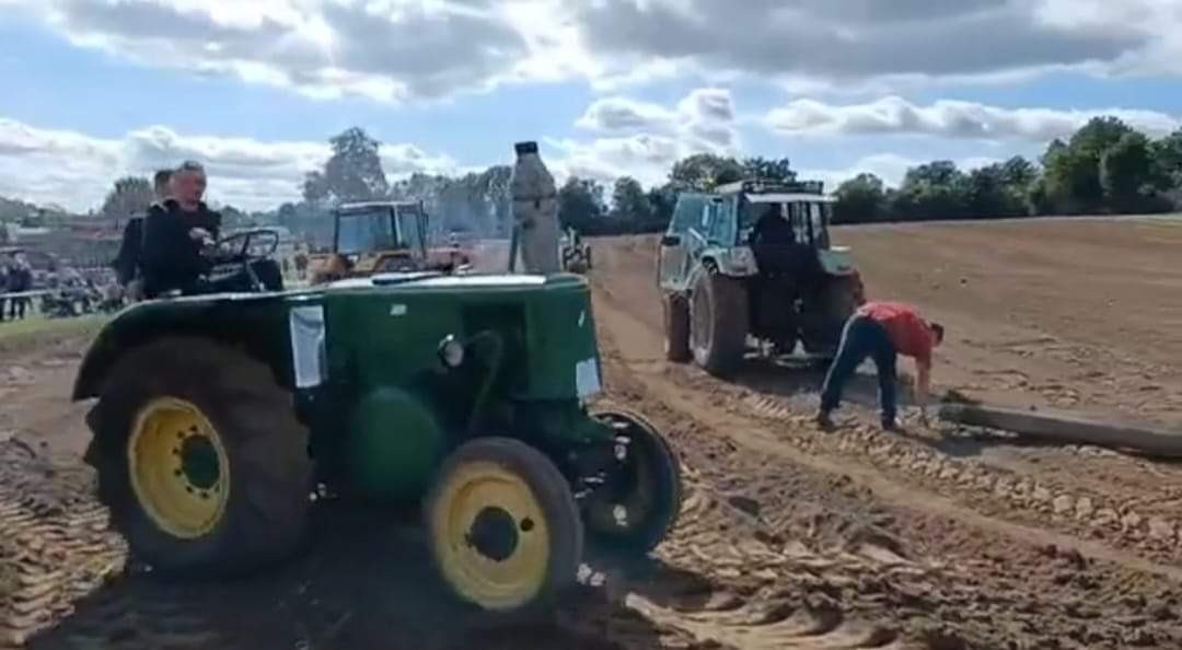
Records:
[[[418,173],[390,182],[382,168],[381,143],[364,129],[348,129],[329,144],[329,160],[300,184],[301,201],[253,214],[223,207],[227,221],[281,225],[324,240],[331,236],[327,215],[337,203],[410,200],[426,203],[435,235],[509,232],[509,165],[460,176]],[[788,182],[797,180],[797,171],[786,157],[696,154],[675,162],[664,182],[649,188],[631,176],[610,184],[569,176],[558,190],[559,219],[564,227],[589,235],[658,232],[669,222],[678,193],[741,178]],[[962,170],[937,160],[909,169],[897,188],[873,174],[859,174],[839,184],[834,195],[837,223],[1168,212],[1182,208],[1182,129],[1152,139],[1116,117],[1098,117],[1071,137],[1052,141],[1038,161],[1014,156]],[[148,178],[129,176],[116,181],[102,212],[124,216],[150,201]],[[0,208],[9,203],[12,212],[30,214],[24,203],[0,201]]]

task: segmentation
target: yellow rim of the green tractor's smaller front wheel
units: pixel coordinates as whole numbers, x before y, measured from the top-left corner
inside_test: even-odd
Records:
[[[533,490],[492,462],[459,467],[433,513],[440,568],[463,598],[488,610],[528,603],[550,565],[550,528]]]

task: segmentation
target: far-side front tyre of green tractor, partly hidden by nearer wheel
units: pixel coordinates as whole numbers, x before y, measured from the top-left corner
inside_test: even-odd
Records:
[[[623,411],[595,417],[616,429],[616,444],[625,446],[626,453],[617,466],[618,482],[609,479],[609,487],[585,505],[584,526],[596,548],[643,555],[661,544],[681,514],[681,463],[643,417]],[[617,508],[623,508],[623,521]]]

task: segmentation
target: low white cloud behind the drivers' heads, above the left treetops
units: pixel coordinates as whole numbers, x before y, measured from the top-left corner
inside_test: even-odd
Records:
[[[266,209],[298,200],[304,174],[327,156],[329,145],[318,142],[183,135],[167,126],[105,139],[0,118],[0,195],[85,210],[102,203],[118,176],[194,158],[209,174],[210,200]],[[391,176],[455,168],[452,158],[407,143],[383,145],[382,163]]]

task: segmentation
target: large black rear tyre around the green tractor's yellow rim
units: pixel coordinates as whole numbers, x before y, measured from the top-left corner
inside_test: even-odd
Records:
[[[225,505],[199,537],[167,531],[139,496],[150,490],[132,485],[132,429],[139,414],[162,399],[199,409],[225,450]],[[87,462],[98,470],[99,500],[132,553],[157,573],[240,576],[303,548],[312,487],[309,434],[265,364],[208,339],[163,338],[119,360],[87,422],[95,431]],[[173,454],[180,456],[182,446]]]

